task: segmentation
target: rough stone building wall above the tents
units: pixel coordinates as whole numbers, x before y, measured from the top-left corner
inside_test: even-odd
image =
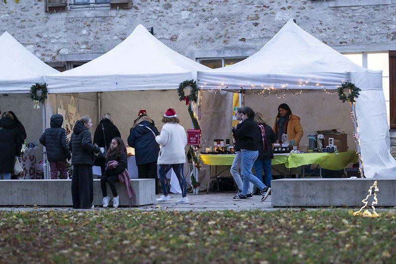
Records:
[[[339,6],[348,2],[356,1],[133,0],[126,10],[47,13],[44,0],[10,0],[0,2],[0,33],[8,31],[46,62],[106,53],[138,24],[154,27],[154,36],[192,59],[250,55],[288,19],[339,52],[396,50],[396,0]]]

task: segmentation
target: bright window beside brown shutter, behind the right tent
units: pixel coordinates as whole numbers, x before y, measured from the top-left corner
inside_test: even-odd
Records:
[[[389,53],[350,53],[344,54],[344,56],[353,63],[369,70],[382,70],[382,89],[384,91],[385,104],[387,107],[388,124],[390,125]]]

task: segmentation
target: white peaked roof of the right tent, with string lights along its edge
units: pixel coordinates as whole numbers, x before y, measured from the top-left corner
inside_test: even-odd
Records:
[[[381,76],[381,71],[354,64],[289,20],[257,53],[227,67],[198,72],[197,79],[204,89],[336,89],[351,81],[353,73]]]

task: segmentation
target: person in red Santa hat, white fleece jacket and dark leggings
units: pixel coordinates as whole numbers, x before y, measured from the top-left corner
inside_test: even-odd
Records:
[[[186,161],[184,148],[187,145],[187,136],[184,128],[179,125],[179,118],[173,108],[169,108],[162,118],[165,123],[161,134],[156,136],[156,141],[161,145],[157,164],[160,166],[158,175],[163,195],[157,199],[158,202],[170,201],[168,194],[167,173],[173,168],[181,188],[181,199],[176,204],[188,204],[187,183],[184,178],[183,164]]]

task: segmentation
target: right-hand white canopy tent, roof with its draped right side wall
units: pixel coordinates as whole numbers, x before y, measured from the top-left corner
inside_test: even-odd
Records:
[[[393,178],[396,161],[390,154],[382,72],[352,63],[292,20],[252,56],[227,67],[197,73],[201,89],[233,92],[250,89],[334,90],[346,81],[362,90],[353,107],[364,176]]]

